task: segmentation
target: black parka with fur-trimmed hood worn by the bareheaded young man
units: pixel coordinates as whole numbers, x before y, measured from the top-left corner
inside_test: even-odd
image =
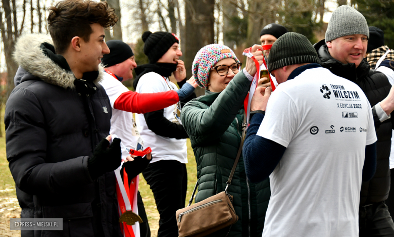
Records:
[[[104,72],[95,74],[95,93],[79,95],[73,73],[45,56],[42,42],[52,40],[24,35],[16,44],[20,67],[6,105],[7,159],[21,217],[63,218],[63,231],[22,236],[122,236],[114,172],[92,180],[87,168],[111,126],[111,104],[98,84]]]

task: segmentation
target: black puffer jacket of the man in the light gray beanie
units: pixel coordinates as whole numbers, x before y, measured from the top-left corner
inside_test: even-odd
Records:
[[[329,54],[324,39],[316,43],[314,47],[319,55],[321,66],[329,69],[335,75],[353,81],[360,86],[367,96],[371,107],[374,107],[387,97],[391,88],[387,77],[383,73],[370,70],[367,61],[363,60],[356,68],[354,63],[343,64],[335,60]],[[370,181],[362,183],[360,206],[384,201],[387,199],[390,191],[389,156],[391,124],[394,122],[394,113],[391,113],[391,119],[380,123],[374,108],[372,108],[372,112],[378,138],[376,143],[376,173]]]

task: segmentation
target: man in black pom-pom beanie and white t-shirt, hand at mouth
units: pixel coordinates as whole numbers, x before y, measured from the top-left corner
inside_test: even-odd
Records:
[[[143,52],[149,64],[135,69],[134,88],[139,93],[178,90],[169,76],[180,82],[186,78],[184,63],[179,60],[178,38],[168,32],[145,31]],[[152,148],[154,159],[142,172],[150,185],[160,214],[158,237],[178,236],[175,213],[183,208],[187,190],[187,147],[185,129],[176,118],[177,105],[135,116],[145,146]],[[175,113],[174,113],[175,112]]]

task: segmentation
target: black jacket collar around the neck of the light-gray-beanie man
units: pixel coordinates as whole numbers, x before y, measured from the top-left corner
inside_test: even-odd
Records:
[[[327,45],[324,39],[320,40],[314,45],[314,48],[319,55],[320,65],[323,68],[329,69],[333,74],[346,78],[350,81],[357,82],[368,75],[370,67],[365,59],[356,68],[354,63],[341,63],[331,57],[328,52]]]

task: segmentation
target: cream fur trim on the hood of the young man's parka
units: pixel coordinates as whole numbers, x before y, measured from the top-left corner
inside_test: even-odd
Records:
[[[53,44],[52,38],[47,34],[23,34],[16,44],[14,59],[17,64],[35,77],[39,77],[46,83],[74,89],[74,73],[67,71],[44,55],[40,45],[43,42]],[[18,69],[19,71],[19,69]],[[15,75],[14,81],[21,82],[21,73]],[[104,77],[104,67],[98,66],[98,77],[93,82],[97,84]],[[23,80],[22,80],[23,81]]]

